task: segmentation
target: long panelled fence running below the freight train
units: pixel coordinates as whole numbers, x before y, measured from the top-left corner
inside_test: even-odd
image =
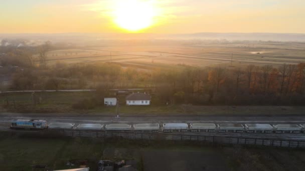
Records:
[[[153,133],[153,132],[129,132],[129,131],[95,131],[95,130],[47,130],[48,132],[60,132],[65,136],[72,137],[96,137],[96,138],[128,138],[142,140],[176,140],[198,141],[212,144],[244,144],[265,145],[278,147],[305,148],[305,140],[288,139],[279,137],[245,137],[223,135],[191,135],[187,133]]]

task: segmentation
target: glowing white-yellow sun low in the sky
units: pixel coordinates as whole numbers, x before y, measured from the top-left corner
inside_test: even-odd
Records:
[[[128,31],[139,31],[154,24],[157,10],[144,0],[122,0],[116,4],[114,22]]]

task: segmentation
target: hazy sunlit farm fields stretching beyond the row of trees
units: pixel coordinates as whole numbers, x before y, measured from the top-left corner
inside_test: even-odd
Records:
[[[278,66],[283,63],[305,62],[304,49],[305,43],[209,43],[84,47],[49,51],[47,55],[49,63],[57,61],[64,63],[112,61],[134,67],[177,64],[199,67],[245,66],[248,64]]]

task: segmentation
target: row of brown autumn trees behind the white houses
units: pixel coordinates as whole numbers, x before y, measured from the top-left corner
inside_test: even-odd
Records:
[[[248,65],[243,68],[185,66],[184,69],[143,70],[115,63],[57,63],[48,69],[32,68],[14,74],[12,89],[156,88],[163,102],[223,103],[302,99],[305,63]],[[160,101],[160,100],[159,100]],[[293,101],[293,100],[292,100]]]

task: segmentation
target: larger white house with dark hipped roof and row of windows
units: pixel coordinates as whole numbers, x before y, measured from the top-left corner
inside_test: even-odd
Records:
[[[145,92],[134,92],[126,96],[126,105],[149,105],[151,96]]]

